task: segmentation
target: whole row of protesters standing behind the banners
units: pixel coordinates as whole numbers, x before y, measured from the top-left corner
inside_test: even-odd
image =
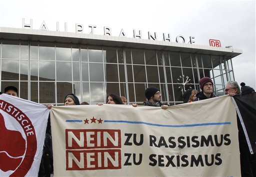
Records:
[[[209,77],[202,77],[199,80],[200,92],[197,92],[195,89],[188,89],[183,93],[183,102],[193,102],[203,99],[208,99],[212,97],[217,97],[213,93],[213,82]],[[236,94],[246,94],[254,92],[255,90],[250,86],[245,86],[244,82],[240,83],[241,89],[236,81],[228,81],[225,85],[224,92],[230,96]],[[7,86],[4,89],[4,93],[17,96],[18,90],[15,86]],[[164,105],[161,102],[161,93],[160,90],[154,86],[150,86],[145,89],[145,98],[147,99],[143,102],[143,105],[146,106],[156,106],[161,107],[162,109],[168,108],[168,105]],[[127,104],[127,99],[124,96],[119,96],[114,93],[110,93],[106,96],[107,104]],[[80,105],[88,104],[87,102],[79,102],[78,97],[69,93],[64,97],[64,105]],[[102,103],[97,103],[102,105]],[[136,107],[137,104],[132,103],[133,107]],[[48,108],[51,108],[52,105],[47,105]],[[237,119],[238,120],[238,119]],[[48,121],[49,123],[49,121]],[[238,140],[239,140],[239,149],[240,149],[240,164],[241,164],[241,176],[256,176],[256,156],[255,154],[250,154],[248,146],[246,144],[245,136],[242,131],[239,121],[238,124]],[[42,161],[39,169],[38,176],[50,176],[50,173],[53,171],[52,165],[52,147],[51,147],[51,135],[50,135],[50,125],[47,126],[46,135],[44,140],[44,148]]]

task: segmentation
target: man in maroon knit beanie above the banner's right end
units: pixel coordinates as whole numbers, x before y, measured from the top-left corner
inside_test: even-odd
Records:
[[[202,91],[196,94],[194,101],[216,97],[213,93],[213,82],[209,77],[202,77],[199,80],[199,84]]]

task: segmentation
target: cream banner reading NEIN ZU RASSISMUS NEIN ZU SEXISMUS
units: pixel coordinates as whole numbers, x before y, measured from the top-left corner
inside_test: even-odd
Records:
[[[240,176],[230,96],[160,107],[54,106],[54,176]]]

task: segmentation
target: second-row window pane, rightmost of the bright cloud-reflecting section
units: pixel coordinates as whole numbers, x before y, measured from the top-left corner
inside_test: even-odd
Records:
[[[104,81],[103,64],[89,63],[90,81]]]

